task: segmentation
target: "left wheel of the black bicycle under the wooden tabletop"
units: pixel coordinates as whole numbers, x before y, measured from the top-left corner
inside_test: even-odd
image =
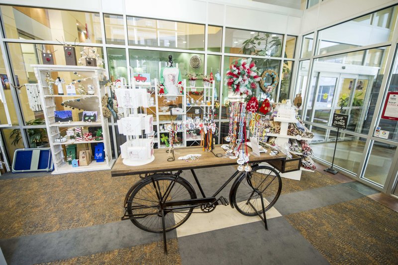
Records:
[[[135,226],[148,232],[163,232],[162,210],[158,195],[163,196],[175,178],[174,176],[157,176],[153,177],[152,181],[152,177],[147,177],[136,184],[136,187],[127,199],[127,213],[141,217],[131,219],[131,222]],[[166,201],[194,199],[196,197],[196,192],[192,185],[183,177],[178,177]],[[166,211],[166,232],[176,229],[187,221],[194,208],[191,207],[178,212]]]

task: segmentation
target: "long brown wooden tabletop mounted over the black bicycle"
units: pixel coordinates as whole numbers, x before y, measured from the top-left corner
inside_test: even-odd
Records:
[[[250,147],[247,147],[248,152],[250,153],[252,150]],[[191,169],[200,169],[200,168],[209,168],[209,167],[222,167],[222,166],[230,166],[236,165],[236,159],[230,159],[228,157],[215,157],[214,154],[225,154],[225,151],[220,147],[220,145],[216,145],[213,152],[203,152],[203,147],[181,147],[174,149],[174,157],[175,161],[169,162],[167,161],[168,153],[166,153],[168,149],[154,149],[155,160],[149,164],[143,166],[126,166],[123,164],[123,159],[119,156],[116,163],[113,165],[111,170],[112,177],[118,176],[128,176],[128,175],[137,175],[137,174],[146,174],[146,173],[157,173],[157,172],[170,172],[170,171],[178,171],[178,170],[191,170]],[[186,156],[189,154],[200,154],[199,160],[186,162],[185,160],[179,160],[179,157]],[[270,160],[281,160],[286,159],[284,154],[279,154],[276,156],[271,156],[270,150],[267,153],[261,153],[260,157],[256,157],[253,154],[250,156],[249,163],[254,162],[267,162]]]

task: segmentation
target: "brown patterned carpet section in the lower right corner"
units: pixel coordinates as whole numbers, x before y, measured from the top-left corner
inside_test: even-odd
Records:
[[[398,213],[368,197],[285,217],[331,264],[397,264]]]

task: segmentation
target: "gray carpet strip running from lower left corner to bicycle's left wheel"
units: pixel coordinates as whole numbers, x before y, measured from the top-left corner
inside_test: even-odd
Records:
[[[176,238],[174,231],[167,238]],[[162,241],[162,234],[138,229],[129,220],[39,235],[1,239],[8,264],[36,264]]]

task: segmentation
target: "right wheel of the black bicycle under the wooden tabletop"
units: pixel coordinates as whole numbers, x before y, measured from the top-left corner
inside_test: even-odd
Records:
[[[279,173],[268,166],[254,167],[238,179],[232,192],[234,207],[243,215],[255,216],[263,213],[261,196],[263,196],[264,209],[269,210],[278,200],[282,190],[282,179]],[[258,192],[257,192],[258,191]]]

